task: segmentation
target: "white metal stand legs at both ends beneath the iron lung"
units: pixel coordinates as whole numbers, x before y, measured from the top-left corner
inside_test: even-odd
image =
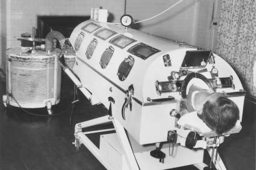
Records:
[[[114,125],[114,128],[112,129],[102,129],[102,130],[93,130],[93,131],[85,131],[85,132],[82,131],[83,128],[88,128],[90,126],[100,125],[100,124],[105,124],[110,122],[112,122]],[[117,134],[118,141],[123,150],[123,155],[125,155],[128,168],[132,170],[139,170],[139,165],[134,156],[134,152],[131,148],[125,129],[117,119],[109,115],[76,124],[75,125],[75,142],[73,142],[73,144],[75,145],[76,150],[79,150],[81,144],[85,145],[85,147],[88,148],[90,152],[92,152],[92,154],[100,161],[101,164],[103,164],[107,169],[111,169],[109,163],[104,159],[104,156],[100,151],[100,148],[95,146],[94,143],[90,141],[90,139],[86,135],[92,134],[92,133],[100,133],[104,131],[113,131],[113,130],[115,130]],[[213,144],[209,145],[210,147],[207,148],[207,151],[209,152],[209,155],[211,158],[210,166],[208,166],[205,163],[193,164],[196,168],[201,170],[205,170],[205,169],[226,170],[225,165],[220,158],[220,155],[217,153],[217,147],[219,145],[217,138],[218,137],[214,137]]]

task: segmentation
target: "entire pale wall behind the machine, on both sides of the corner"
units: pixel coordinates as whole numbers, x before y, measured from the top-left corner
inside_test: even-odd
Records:
[[[5,49],[19,46],[17,36],[31,32],[37,25],[38,15],[89,15],[91,7],[102,6],[113,14],[113,22],[119,22],[124,13],[125,0],[0,0],[1,14],[5,15],[5,22],[1,20],[1,39],[6,46],[0,45],[0,66],[5,65]],[[166,10],[178,0],[127,0],[126,14],[135,20],[149,18]],[[209,49],[209,28],[214,1],[220,0],[184,0],[179,5],[167,11],[158,18],[140,24],[140,30],[158,36],[185,41],[188,44]],[[2,8],[6,11],[3,11]],[[0,28],[0,29],[1,29]],[[1,41],[0,39],[0,41]],[[1,49],[2,48],[2,49]]]

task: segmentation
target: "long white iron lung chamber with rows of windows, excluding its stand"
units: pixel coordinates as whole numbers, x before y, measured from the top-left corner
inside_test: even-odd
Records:
[[[209,50],[94,20],[77,25],[69,41],[76,50],[73,72],[105,107],[114,99],[112,116],[140,145],[166,141],[176,129],[170,112],[193,79],[233,100],[242,121],[242,83]]]

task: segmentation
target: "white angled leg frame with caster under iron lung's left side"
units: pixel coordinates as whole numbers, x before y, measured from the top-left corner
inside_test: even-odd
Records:
[[[113,123],[114,129],[104,129],[104,130],[95,130],[95,131],[82,132],[82,128],[88,128],[90,126],[105,124],[105,123],[109,123],[109,122]],[[127,160],[127,164],[129,166],[129,169],[139,170],[137,161],[135,159],[133,150],[131,149],[129,139],[127,138],[125,129],[118,122],[118,120],[115,120],[115,118],[113,118],[113,117],[103,116],[103,117],[95,118],[93,120],[89,120],[89,121],[85,121],[85,122],[81,122],[79,124],[76,124],[76,126],[75,126],[75,142],[73,144],[75,144],[75,147],[76,147],[77,150],[79,149],[81,143],[84,144],[85,147],[88,148],[88,150],[90,152],[92,152],[92,154],[107,169],[110,169],[108,163],[106,163],[105,160],[102,159],[100,149],[97,146],[95,146],[94,143],[92,141],[90,141],[90,139],[88,137],[86,137],[86,134],[99,133],[99,132],[102,132],[102,131],[111,131],[111,130],[115,130],[117,135],[118,135],[118,139],[119,139],[119,142],[121,143],[121,147],[122,147],[123,151],[125,152],[125,158]]]

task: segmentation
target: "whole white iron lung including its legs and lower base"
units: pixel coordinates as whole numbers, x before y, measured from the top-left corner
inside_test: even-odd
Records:
[[[217,147],[224,135],[241,130],[245,91],[224,59],[208,50],[95,20],[79,24],[69,41],[76,62],[72,70],[61,63],[64,71],[92,104],[109,108],[106,116],[76,124],[76,148],[85,145],[107,169],[190,164],[204,169],[204,150],[212,158],[210,168],[225,169]],[[233,129],[219,136],[193,121],[193,114],[181,121],[181,100],[192,84],[221,92],[237,104],[240,120]],[[82,131],[106,122],[112,122],[114,129]],[[113,130],[101,135],[100,148],[86,137]]]

